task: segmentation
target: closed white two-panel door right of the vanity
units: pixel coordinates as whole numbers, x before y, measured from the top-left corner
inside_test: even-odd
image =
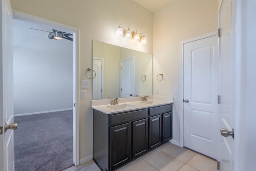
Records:
[[[184,44],[184,146],[218,157],[218,37]]]

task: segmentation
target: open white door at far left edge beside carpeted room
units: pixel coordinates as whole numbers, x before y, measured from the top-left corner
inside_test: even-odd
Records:
[[[0,75],[0,126],[13,123],[13,64],[12,64],[12,8],[9,0],[1,1],[2,40]],[[4,128],[3,128],[4,129]],[[3,171],[14,171],[14,131],[8,129],[0,135],[0,166]]]

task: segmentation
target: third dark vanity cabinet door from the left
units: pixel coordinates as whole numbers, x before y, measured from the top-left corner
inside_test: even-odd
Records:
[[[158,147],[162,140],[162,115],[149,118],[149,149]]]

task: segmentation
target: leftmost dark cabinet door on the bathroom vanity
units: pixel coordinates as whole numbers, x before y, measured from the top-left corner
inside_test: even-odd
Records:
[[[131,123],[110,127],[111,170],[117,169],[132,159]]]

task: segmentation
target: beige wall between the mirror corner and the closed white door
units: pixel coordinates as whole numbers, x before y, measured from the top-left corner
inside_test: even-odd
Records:
[[[174,97],[173,140],[180,141],[180,42],[217,31],[218,0],[173,0],[153,16],[154,95]],[[164,75],[158,82],[156,76]],[[179,92],[174,93],[174,86]],[[159,94],[156,89],[159,88]]]

